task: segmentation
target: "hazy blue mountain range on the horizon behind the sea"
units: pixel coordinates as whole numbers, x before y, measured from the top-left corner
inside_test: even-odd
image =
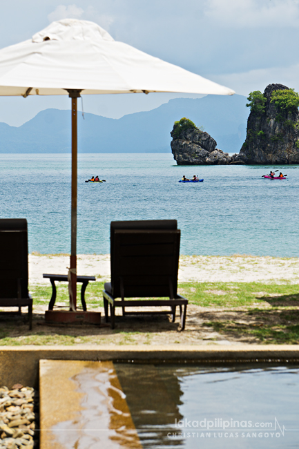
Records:
[[[217,141],[218,149],[238,153],[246,137],[246,102],[242,95],[207,95],[171,99],[152,111],[120,119],[84,113],[83,120],[78,113],[78,151],[166,153],[171,151],[173,122],[187,117],[204,126]],[[0,153],[68,153],[70,135],[70,111],[46,109],[18,128],[0,123]]]

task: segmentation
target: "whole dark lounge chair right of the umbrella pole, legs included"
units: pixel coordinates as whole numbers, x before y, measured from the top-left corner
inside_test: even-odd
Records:
[[[115,327],[115,307],[122,314],[171,314],[180,307],[181,329],[185,327],[188,300],[177,294],[180,230],[176,220],[111,222],[111,282],[104,285],[104,309]],[[136,298],[169,299],[136,299]],[[117,300],[117,298],[121,298]],[[127,300],[126,298],[135,298]],[[167,306],[167,310],[127,312],[126,307]]]

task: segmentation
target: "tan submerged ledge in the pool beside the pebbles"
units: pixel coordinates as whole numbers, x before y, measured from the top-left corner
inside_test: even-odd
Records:
[[[113,362],[39,361],[40,449],[142,449]]]

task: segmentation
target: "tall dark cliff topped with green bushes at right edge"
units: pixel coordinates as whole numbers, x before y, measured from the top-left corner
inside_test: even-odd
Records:
[[[246,164],[299,163],[298,98],[282,84],[269,84],[263,94],[249,95],[251,113],[239,159]]]

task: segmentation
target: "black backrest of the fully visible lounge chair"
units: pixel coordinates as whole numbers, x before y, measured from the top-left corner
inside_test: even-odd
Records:
[[[175,297],[180,255],[176,220],[111,222],[115,297]]]

